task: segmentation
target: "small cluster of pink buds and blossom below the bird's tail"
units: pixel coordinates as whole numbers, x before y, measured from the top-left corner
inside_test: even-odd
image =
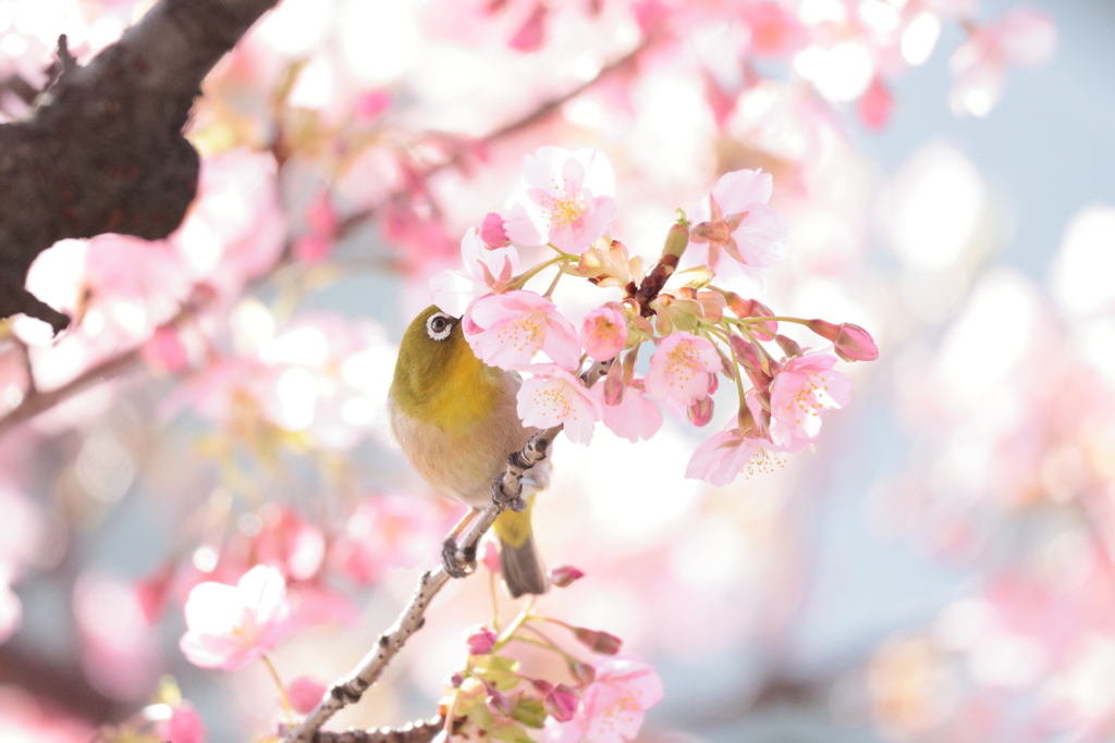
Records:
[[[497,560],[495,549],[485,550],[485,566],[498,570]],[[551,583],[564,588],[583,575],[573,567],[555,568]],[[580,652],[571,651],[571,643],[555,642],[550,627],[559,627]],[[622,743],[639,734],[643,713],[662,698],[662,682],[653,667],[621,654],[620,638],[544,617],[531,607],[502,630],[473,627],[465,644],[468,657],[449,677],[442,701],[443,742],[458,735],[533,740],[529,731],[534,730],[545,743]],[[513,649],[525,645],[555,657],[555,673],[564,680],[523,674]],[[585,651],[591,654],[588,659]]]

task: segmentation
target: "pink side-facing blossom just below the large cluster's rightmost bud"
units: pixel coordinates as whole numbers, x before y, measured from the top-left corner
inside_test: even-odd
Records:
[[[833,371],[836,356],[807,353],[792,359],[770,383],[770,441],[799,451],[821,436],[821,412],[852,399],[852,381]]]

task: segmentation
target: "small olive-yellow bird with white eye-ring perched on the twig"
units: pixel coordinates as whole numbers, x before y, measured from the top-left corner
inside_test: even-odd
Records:
[[[537,432],[523,428],[515,393],[522,379],[477,359],[460,321],[437,306],[407,327],[388,393],[391,429],[410,465],[432,488],[475,509],[492,500],[492,481],[507,456]],[[524,486],[544,486],[549,461],[527,470]],[[515,598],[549,587],[531,531],[533,495],[526,509],[505,510],[494,530],[507,590]]]

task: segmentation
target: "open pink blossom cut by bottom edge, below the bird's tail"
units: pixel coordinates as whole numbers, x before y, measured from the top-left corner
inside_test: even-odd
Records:
[[[622,743],[642,727],[643,713],[662,698],[662,680],[649,664],[609,658],[595,667],[595,681],[581,694],[568,722],[546,718],[544,743]]]

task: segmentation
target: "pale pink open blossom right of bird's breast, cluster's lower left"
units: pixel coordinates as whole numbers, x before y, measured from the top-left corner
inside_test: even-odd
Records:
[[[564,423],[570,441],[589,443],[602,416],[598,395],[555,364],[540,364],[527,371],[536,375],[518,388],[517,409],[523,426],[545,429]]]

